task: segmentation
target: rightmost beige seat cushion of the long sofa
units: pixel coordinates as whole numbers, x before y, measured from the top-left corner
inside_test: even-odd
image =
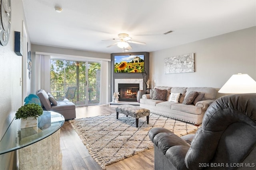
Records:
[[[197,115],[202,113],[201,107],[197,107],[194,105],[173,104],[172,109],[177,111],[184,111],[186,113],[197,114]]]

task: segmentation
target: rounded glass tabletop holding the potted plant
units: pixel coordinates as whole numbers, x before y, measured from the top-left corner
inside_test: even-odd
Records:
[[[0,141],[0,154],[36,143],[58,131],[64,122],[60,113],[44,111],[38,117],[37,126],[21,129],[20,119],[14,118]]]

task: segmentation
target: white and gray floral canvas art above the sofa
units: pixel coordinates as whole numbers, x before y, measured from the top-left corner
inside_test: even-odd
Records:
[[[195,72],[194,53],[164,59],[164,73]]]

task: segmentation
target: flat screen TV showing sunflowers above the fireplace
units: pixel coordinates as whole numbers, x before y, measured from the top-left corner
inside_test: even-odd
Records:
[[[114,72],[143,72],[144,55],[114,56]]]

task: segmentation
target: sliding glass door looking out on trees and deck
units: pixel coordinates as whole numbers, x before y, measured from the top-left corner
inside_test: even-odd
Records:
[[[100,103],[100,63],[51,59],[51,94],[76,106]]]

